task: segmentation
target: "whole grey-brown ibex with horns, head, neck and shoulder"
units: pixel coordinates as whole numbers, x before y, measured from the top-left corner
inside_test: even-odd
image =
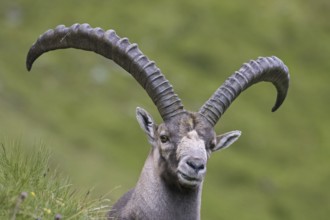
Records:
[[[210,154],[230,146],[240,136],[231,131],[216,136],[214,126],[235,98],[251,85],[267,81],[277,89],[275,111],[289,88],[289,72],[277,57],[245,63],[206,101],[198,112],[184,109],[172,85],[153,61],[115,31],[88,24],[60,25],[42,34],[27,55],[27,69],[43,53],[63,48],[93,51],[116,62],[146,90],[163,119],[157,125],[147,111],[136,116],[151,144],[140,178],[112,207],[109,219],[200,219],[201,193]]]

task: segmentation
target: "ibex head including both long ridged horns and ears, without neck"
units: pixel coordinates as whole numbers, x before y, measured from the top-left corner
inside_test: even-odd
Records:
[[[230,76],[198,112],[183,108],[153,61],[150,61],[127,38],[113,30],[103,31],[88,24],[63,25],[39,37],[27,56],[27,68],[43,53],[60,48],[94,51],[107,57],[127,72],[146,90],[164,122],[157,125],[143,109],[137,108],[137,119],[152,145],[150,160],[161,179],[178,189],[193,189],[203,182],[210,154],[235,142],[240,131],[216,136],[214,126],[235,98],[251,85],[268,81],[277,89],[273,111],[284,101],[289,87],[287,67],[277,57],[258,58],[245,63]]]

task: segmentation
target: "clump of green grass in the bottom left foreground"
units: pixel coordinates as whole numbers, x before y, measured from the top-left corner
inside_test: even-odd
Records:
[[[49,150],[0,147],[0,219],[105,219],[109,201],[81,193],[50,164]]]

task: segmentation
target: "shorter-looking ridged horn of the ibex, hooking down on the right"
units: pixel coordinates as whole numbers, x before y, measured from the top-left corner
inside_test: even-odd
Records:
[[[277,99],[272,111],[283,103],[289,88],[290,75],[287,66],[277,57],[260,57],[251,60],[231,75],[202,106],[199,113],[213,125],[218,122],[237,96],[255,83],[267,81],[277,89]]]

